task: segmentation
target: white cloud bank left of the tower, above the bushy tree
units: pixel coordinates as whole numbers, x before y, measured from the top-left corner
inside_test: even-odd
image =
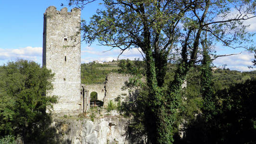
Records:
[[[42,48],[41,47],[26,47],[26,48],[0,48],[0,60],[2,62],[12,61],[16,59],[34,60],[41,63]],[[3,64],[3,63],[0,63]]]

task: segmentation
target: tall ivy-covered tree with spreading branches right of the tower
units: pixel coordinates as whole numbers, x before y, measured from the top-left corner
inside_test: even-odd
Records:
[[[82,8],[93,1],[69,0],[69,4]],[[224,47],[255,48],[243,24],[255,17],[253,0],[101,1],[105,9],[97,10],[89,24],[82,24],[83,38],[87,43],[97,40],[100,45],[120,48],[121,53],[139,48],[144,54],[148,87],[144,125],[153,144],[173,142],[181,85],[189,70],[202,62],[204,48],[200,43],[205,35],[211,49],[217,42]],[[178,62],[178,68],[173,81],[166,84],[168,60]]]

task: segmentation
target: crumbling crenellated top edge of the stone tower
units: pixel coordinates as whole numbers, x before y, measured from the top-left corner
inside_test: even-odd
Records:
[[[80,14],[80,13],[81,13],[81,9],[79,9],[79,8],[73,8],[71,10],[71,12],[67,12],[66,7],[62,8],[61,11],[58,11],[55,6],[49,6],[46,9],[44,15],[47,15],[47,14]]]

